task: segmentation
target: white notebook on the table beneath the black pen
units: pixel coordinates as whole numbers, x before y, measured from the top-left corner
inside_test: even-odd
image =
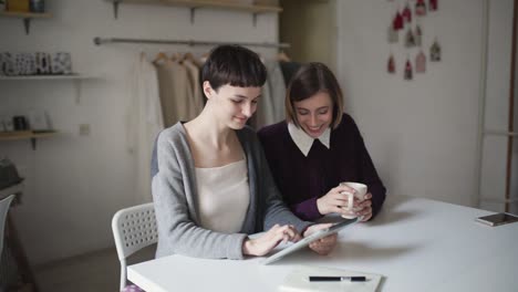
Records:
[[[335,275],[335,277],[355,277],[364,275],[365,282],[310,282],[310,275]],[[364,273],[359,271],[348,271],[341,269],[320,268],[300,265],[293,269],[289,273],[282,284],[279,286],[279,291],[284,292],[323,292],[323,291],[336,291],[336,292],[374,292],[376,291],[382,280],[381,274]]]

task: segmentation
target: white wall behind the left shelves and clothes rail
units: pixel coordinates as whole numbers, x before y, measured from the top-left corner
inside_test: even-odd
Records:
[[[0,82],[0,115],[46,111],[55,138],[0,144],[27,178],[23,205],[15,223],[32,263],[42,263],[113,246],[111,218],[134,205],[135,159],[125,145],[124,113],[127,74],[139,51],[185,52],[182,45],[107,44],[94,36],[195,39],[276,42],[277,14],[259,14],[257,27],[247,12],[198,9],[190,24],[187,8],[121,4],[118,20],[106,1],[46,1],[53,17],[34,20],[25,35],[20,19],[0,18],[0,48],[11,52],[72,53],[74,71],[95,76],[83,81],[80,102],[72,81]],[[206,52],[209,48],[196,48]],[[262,55],[271,49],[258,50]],[[79,136],[79,124],[91,135]]]

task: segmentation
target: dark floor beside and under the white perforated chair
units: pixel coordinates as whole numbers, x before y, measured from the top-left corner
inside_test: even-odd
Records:
[[[132,258],[141,262],[154,258],[155,247]],[[121,265],[115,248],[43,264],[34,269],[41,292],[116,292]]]

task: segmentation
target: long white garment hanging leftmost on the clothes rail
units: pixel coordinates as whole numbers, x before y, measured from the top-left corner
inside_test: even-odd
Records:
[[[158,77],[156,69],[141,53],[132,69],[130,104],[126,111],[126,140],[131,153],[135,155],[134,184],[136,184],[135,204],[153,200],[151,192],[151,154],[158,133],[164,128]]]

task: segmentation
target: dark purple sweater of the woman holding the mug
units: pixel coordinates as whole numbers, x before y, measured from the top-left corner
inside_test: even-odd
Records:
[[[331,131],[330,148],[315,139],[308,157],[291,139],[286,122],[263,127],[258,135],[286,204],[302,220],[322,217],[317,199],[342,181],[367,185],[373,218],[380,211],[386,189],[356,124],[348,114],[343,114],[340,125]]]

